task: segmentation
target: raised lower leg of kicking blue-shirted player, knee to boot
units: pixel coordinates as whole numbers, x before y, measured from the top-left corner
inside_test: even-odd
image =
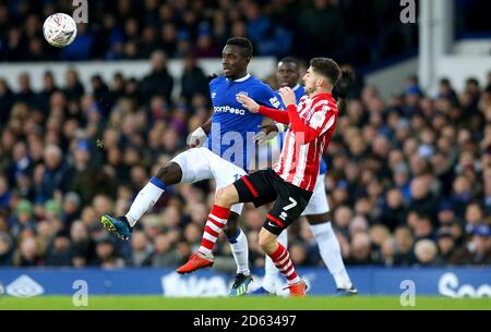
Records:
[[[122,239],[130,239],[136,221],[157,202],[168,185],[177,184],[181,179],[182,170],[179,164],[170,162],[165,168],[160,168],[157,174],[136,195],[131,204],[130,211],[120,217],[104,214],[100,218],[103,226]]]

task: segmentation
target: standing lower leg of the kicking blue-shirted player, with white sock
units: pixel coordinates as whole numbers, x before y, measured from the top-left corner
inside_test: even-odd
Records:
[[[230,243],[233,259],[237,265],[237,274],[230,290],[230,296],[244,295],[249,290],[252,281],[251,271],[249,269],[249,245],[248,238],[239,228],[239,214],[230,212],[228,222],[225,225],[224,233]]]

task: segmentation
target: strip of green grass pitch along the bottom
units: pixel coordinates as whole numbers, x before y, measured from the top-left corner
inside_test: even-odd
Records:
[[[88,307],[75,307],[70,296],[33,298],[0,297],[0,310],[491,310],[490,298],[417,297],[415,307],[403,307],[399,297],[356,296],[303,298],[284,297],[200,297],[169,298],[161,296],[89,296]]]

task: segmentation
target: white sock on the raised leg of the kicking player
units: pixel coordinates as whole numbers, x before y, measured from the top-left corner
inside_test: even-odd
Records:
[[[140,190],[139,195],[136,195],[136,198],[131,204],[130,211],[124,216],[131,226],[134,226],[136,221],[139,221],[140,218],[157,202],[165,189],[165,185],[154,176]]]

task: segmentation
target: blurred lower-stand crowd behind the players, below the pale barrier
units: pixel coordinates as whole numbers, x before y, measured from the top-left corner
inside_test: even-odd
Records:
[[[160,52],[141,82],[95,76],[93,94],[74,71],[63,83],[46,73],[40,91],[28,75],[15,93],[0,81],[0,265],[171,267],[194,251],[213,204],[207,182],[166,192],[130,244],[98,222],[123,214],[207,119],[206,76],[191,60],[182,84],[202,85],[175,102],[166,98],[173,78]],[[346,263],[491,263],[491,75],[488,87],[470,78],[462,93],[442,79],[436,98],[416,77],[391,100],[360,84],[326,156]],[[264,214],[251,207],[242,214],[255,267],[264,262],[256,241]],[[295,263],[319,265],[307,223],[289,232]],[[231,257],[227,243],[218,256]]]

